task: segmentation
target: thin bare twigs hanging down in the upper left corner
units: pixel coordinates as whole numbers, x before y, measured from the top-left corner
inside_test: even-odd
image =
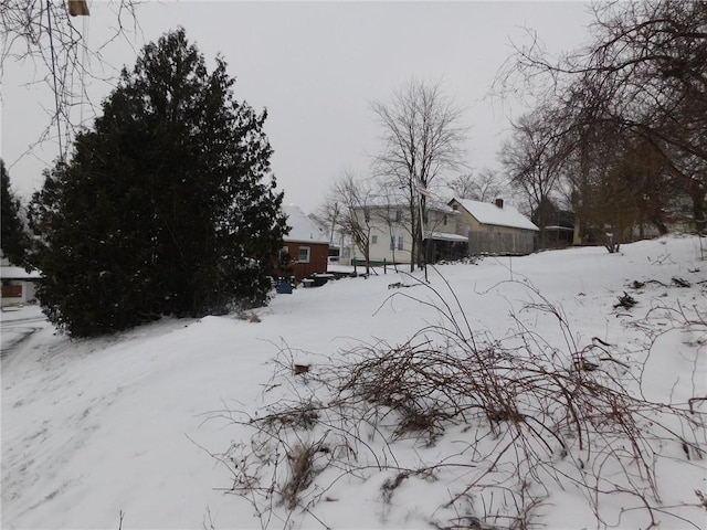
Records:
[[[138,3],[139,0],[113,0],[96,8],[115,12],[112,33],[106,34],[96,49],[87,45],[82,25],[77,23],[82,17],[89,15],[85,0],[3,0],[0,3],[0,81],[4,81],[9,61],[29,61],[36,72],[34,82],[45,83],[54,94],[51,119],[38,144],[55,130],[60,153],[65,156],[74,129],[81,125],[72,121],[70,112],[76,105],[91,105],[86,80],[97,75],[91,65],[105,64],[102,49],[110,41],[127,36],[127,24],[137,28]],[[115,71],[109,75],[117,74]]]

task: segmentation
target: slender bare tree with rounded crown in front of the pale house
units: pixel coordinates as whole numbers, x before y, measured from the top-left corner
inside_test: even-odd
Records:
[[[377,173],[389,188],[400,190],[408,205],[414,271],[424,263],[422,220],[429,191],[445,171],[463,167],[462,110],[442,93],[440,83],[414,78],[389,103],[373,103],[371,109],[382,130]]]

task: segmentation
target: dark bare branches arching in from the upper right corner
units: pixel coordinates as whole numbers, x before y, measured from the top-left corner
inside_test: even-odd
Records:
[[[592,42],[551,61],[537,45],[518,47],[502,70],[503,93],[518,81],[562,102],[564,130],[611,124],[661,153],[675,186],[687,193],[698,231],[707,197],[707,3],[647,0],[594,6]]]

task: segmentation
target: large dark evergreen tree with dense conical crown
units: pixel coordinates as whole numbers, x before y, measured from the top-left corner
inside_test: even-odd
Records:
[[[38,298],[71,335],[266,300],[286,230],[266,113],[215,63],[183,29],[146,45],[35,195]]]

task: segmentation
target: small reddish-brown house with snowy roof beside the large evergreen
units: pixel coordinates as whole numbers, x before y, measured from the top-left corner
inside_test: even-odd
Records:
[[[284,237],[285,246],[278,256],[281,276],[306,278],[327,272],[329,239],[318,224],[298,206],[283,206],[289,233]]]

